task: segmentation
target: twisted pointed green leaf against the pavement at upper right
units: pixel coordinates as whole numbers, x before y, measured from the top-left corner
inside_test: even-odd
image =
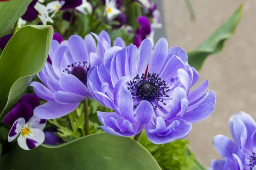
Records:
[[[189,65],[196,70],[200,70],[204,60],[211,54],[221,52],[224,42],[228,40],[235,32],[241,19],[244,4],[241,4],[235,13],[216,30],[207,40],[198,48],[188,53]]]

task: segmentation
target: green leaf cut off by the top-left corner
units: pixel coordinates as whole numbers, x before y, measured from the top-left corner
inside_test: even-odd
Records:
[[[0,2],[0,37],[25,13],[32,0]]]

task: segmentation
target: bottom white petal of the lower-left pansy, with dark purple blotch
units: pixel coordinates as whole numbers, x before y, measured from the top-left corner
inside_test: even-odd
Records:
[[[40,129],[30,128],[29,134],[18,137],[18,144],[24,150],[31,150],[44,142],[44,132]]]

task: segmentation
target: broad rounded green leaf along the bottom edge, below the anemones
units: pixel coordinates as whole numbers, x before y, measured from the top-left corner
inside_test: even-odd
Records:
[[[138,142],[108,133],[85,136],[59,146],[39,146],[31,151],[17,146],[2,156],[0,169],[161,170]]]

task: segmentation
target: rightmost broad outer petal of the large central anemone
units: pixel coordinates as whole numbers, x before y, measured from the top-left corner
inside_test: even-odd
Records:
[[[196,123],[206,119],[214,111],[216,104],[216,96],[213,91],[209,92],[209,95],[203,102],[201,102],[192,111],[187,112],[182,119]]]

